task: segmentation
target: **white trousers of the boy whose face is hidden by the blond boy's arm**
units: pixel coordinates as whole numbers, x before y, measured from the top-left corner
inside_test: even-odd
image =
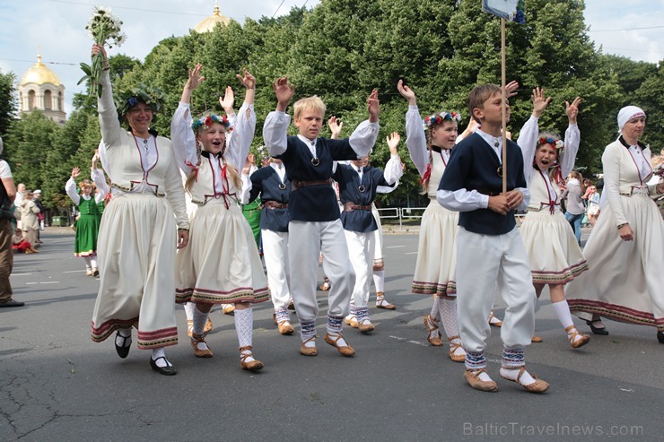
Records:
[[[369,306],[369,290],[373,276],[373,253],[376,247],[374,232],[344,230],[348,255],[355,271],[353,301],[355,307]]]

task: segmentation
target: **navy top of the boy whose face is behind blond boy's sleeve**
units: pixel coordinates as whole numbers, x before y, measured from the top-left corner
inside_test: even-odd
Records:
[[[363,168],[362,182],[360,181],[360,175],[357,173],[357,167],[353,165],[338,164],[334,178],[339,183],[341,204],[371,205],[373,200],[376,199],[376,188],[378,186],[389,186],[383,177],[383,171],[371,166]],[[361,188],[364,189],[363,192],[360,191]],[[345,230],[363,233],[378,230],[378,224],[371,211],[366,210],[341,212],[341,223]]]

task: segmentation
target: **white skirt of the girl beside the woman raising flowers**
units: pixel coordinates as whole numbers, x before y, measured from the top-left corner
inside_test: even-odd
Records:
[[[240,207],[210,200],[191,214],[188,246],[179,251],[176,298],[206,304],[269,299],[263,264]]]

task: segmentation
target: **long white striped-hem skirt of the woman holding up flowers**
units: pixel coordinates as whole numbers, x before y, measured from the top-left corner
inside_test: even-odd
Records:
[[[114,196],[101,218],[97,253],[100,290],[92,341],[115,330],[138,329],[138,348],[178,343],[175,320],[177,225],[166,198]]]

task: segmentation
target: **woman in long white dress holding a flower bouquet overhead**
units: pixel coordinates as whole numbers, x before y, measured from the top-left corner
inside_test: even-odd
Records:
[[[170,140],[150,130],[158,102],[144,90],[122,100],[120,126],[113,102],[106,50],[98,100],[100,157],[111,181],[113,199],[101,218],[97,243],[100,290],[92,313],[92,341],[115,331],[116,351],[127,358],[131,327],[138,329],[138,348],[152,350],[150,366],[162,375],[177,370],[164,347],[178,343],[175,321],[175,250],[188,241],[184,189]],[[175,216],[173,214],[175,213]]]

